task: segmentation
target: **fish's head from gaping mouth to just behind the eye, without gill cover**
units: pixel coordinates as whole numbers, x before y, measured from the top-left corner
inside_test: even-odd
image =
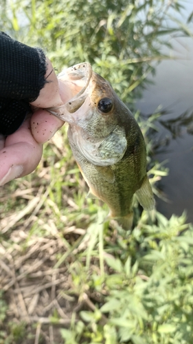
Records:
[[[64,69],[58,80],[71,89],[73,97],[60,107],[47,109],[49,112],[82,127],[93,137],[105,137],[115,128],[119,113],[117,94],[108,81],[93,72],[89,63]]]

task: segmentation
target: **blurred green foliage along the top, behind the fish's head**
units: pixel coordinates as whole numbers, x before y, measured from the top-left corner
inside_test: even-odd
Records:
[[[180,1],[4,0],[0,17],[3,30],[43,47],[58,69],[90,62],[131,106],[169,46],[166,35],[179,32],[167,24],[171,10],[179,14]]]

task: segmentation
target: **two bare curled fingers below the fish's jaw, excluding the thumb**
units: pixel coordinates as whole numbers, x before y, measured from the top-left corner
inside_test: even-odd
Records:
[[[41,160],[43,142],[51,138],[63,121],[39,109],[6,139],[0,137],[0,186],[34,171]]]

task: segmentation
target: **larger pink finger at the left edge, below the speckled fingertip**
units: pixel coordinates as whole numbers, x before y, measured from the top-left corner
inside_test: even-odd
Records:
[[[34,140],[29,120],[26,120],[19,130],[8,136],[0,151],[0,186],[34,171],[42,151],[42,144]]]

